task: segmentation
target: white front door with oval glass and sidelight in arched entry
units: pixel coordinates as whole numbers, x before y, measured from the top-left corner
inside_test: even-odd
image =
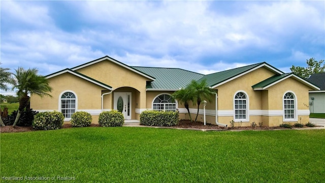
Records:
[[[131,119],[131,96],[130,92],[114,93],[114,110],[121,112],[125,119]]]

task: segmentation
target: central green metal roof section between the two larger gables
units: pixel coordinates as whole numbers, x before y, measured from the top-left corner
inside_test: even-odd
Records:
[[[132,68],[156,78],[154,81],[147,83],[147,90],[178,90],[185,87],[191,80],[198,80],[204,76],[203,74],[177,68]]]

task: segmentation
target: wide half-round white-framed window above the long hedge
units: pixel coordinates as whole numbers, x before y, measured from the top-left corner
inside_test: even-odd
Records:
[[[152,109],[158,111],[176,111],[176,101],[170,95],[157,96],[152,103]]]

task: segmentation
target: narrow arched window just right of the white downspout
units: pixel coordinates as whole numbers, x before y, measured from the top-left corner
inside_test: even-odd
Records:
[[[248,99],[245,93],[238,92],[234,98],[235,121],[248,119]]]

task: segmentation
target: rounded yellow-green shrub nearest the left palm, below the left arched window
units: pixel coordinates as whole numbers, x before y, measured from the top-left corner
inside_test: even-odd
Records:
[[[32,128],[39,130],[57,130],[63,127],[64,116],[61,112],[40,112],[32,121]]]

